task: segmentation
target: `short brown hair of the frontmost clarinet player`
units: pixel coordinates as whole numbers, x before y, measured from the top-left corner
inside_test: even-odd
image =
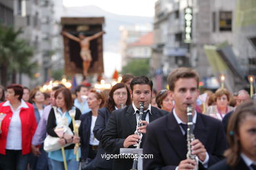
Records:
[[[179,67],[178,69],[175,69],[173,72],[171,72],[167,78],[169,90],[174,90],[175,82],[177,82],[179,78],[195,78],[197,87],[199,86],[199,76],[194,69],[188,67]]]

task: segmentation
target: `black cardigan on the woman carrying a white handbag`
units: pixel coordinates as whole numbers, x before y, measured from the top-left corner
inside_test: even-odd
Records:
[[[75,120],[79,120],[81,116],[81,111],[77,108],[75,108]],[[58,135],[55,133],[54,128],[56,127],[56,118],[54,114],[53,108],[51,109],[48,120],[47,120],[47,133],[51,135],[52,137],[58,137]],[[72,121],[68,125],[70,127],[71,131],[74,131],[74,127],[72,124]],[[70,144],[69,146],[66,146],[65,149],[74,149],[75,144]]]

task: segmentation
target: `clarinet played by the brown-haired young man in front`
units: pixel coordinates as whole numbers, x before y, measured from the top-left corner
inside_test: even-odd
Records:
[[[191,142],[195,140],[195,136],[193,133],[193,126],[194,123],[192,122],[192,108],[191,105],[188,105],[186,108],[186,115],[188,116],[188,129],[186,130],[186,141],[187,141],[187,148],[188,152],[186,154],[186,158],[190,160],[196,161],[196,167],[193,170],[198,170],[198,156],[192,154],[192,146]]]

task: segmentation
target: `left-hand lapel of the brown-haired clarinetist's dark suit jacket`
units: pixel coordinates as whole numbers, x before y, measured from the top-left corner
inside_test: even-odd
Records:
[[[173,150],[175,150],[181,160],[185,160],[187,152],[186,138],[182,134],[181,128],[173,116],[173,112],[167,116],[167,129],[165,129],[165,133],[173,146]]]

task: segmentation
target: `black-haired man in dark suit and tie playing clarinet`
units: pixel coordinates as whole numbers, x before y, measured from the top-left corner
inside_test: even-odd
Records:
[[[142,148],[148,123],[168,114],[165,110],[160,110],[150,105],[153,83],[148,77],[135,77],[130,86],[133,99],[132,105],[112,112],[106,131],[102,136],[103,148],[112,154],[119,154],[120,148],[135,148],[133,145],[139,141],[140,137],[135,134],[135,131],[137,129],[137,120],[139,120],[137,117],[139,116],[140,103],[144,104],[144,116],[142,116],[141,121],[144,126],[138,128],[139,133],[142,133],[140,148]],[[113,161],[113,169],[117,170],[131,169],[132,165],[133,159],[114,159]]]

